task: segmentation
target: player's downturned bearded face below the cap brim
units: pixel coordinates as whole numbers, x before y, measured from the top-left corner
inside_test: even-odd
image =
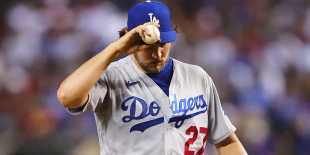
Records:
[[[144,73],[159,73],[168,62],[171,43],[155,44],[135,53],[135,59]]]

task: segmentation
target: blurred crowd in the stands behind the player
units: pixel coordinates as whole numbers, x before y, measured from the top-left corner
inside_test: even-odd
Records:
[[[98,154],[93,113],[70,115],[56,92],[140,1],[0,2],[0,155]],[[180,31],[171,57],[211,76],[248,154],[310,155],[310,1],[158,1]]]

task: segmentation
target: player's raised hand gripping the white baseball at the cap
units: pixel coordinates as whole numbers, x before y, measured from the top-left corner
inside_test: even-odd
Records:
[[[113,43],[116,51],[120,54],[132,54],[153,46],[154,44],[148,45],[144,44],[144,42],[142,41],[142,37],[144,37],[144,32],[147,35],[150,35],[150,32],[146,25],[154,25],[159,28],[159,25],[155,22],[148,22],[144,23],[143,25],[139,25],[131,31],[128,31],[124,36],[122,36],[119,40]]]

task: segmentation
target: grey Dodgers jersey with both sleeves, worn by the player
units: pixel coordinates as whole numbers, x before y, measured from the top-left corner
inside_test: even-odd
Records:
[[[130,56],[112,62],[80,111],[95,115],[101,155],[202,155],[235,131],[212,79],[173,59],[169,97]]]

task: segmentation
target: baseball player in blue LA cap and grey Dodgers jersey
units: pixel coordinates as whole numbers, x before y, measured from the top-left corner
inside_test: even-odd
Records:
[[[143,44],[146,25],[160,39]],[[72,114],[94,112],[101,155],[246,155],[199,66],[169,57],[177,39],[167,6],[141,2],[128,12],[124,35],[66,78],[57,96]],[[129,56],[115,61],[122,55]],[[207,152],[207,151],[206,151]]]

